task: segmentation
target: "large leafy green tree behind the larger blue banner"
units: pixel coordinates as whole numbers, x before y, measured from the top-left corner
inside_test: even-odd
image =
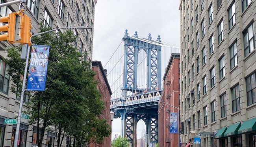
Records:
[[[50,30],[49,27],[44,27],[42,24],[39,29],[40,32]],[[97,122],[96,118],[101,114],[104,105],[100,100],[100,93],[96,89],[95,73],[91,70],[91,63],[82,60],[83,55],[72,45],[75,39],[76,36],[71,31],[57,35],[53,32],[46,33],[32,38],[33,44],[49,45],[50,52],[45,91],[26,92],[30,95],[28,106],[31,108],[26,113],[30,115],[29,123],[37,124],[37,134],[39,134],[39,127],[44,134],[46,127],[55,126],[58,147],[61,146],[67,131],[79,129],[79,127],[69,128],[80,125],[74,124],[74,122],[87,125],[82,136],[87,136],[88,131],[93,129],[96,130],[96,134],[99,133],[97,131],[100,129],[95,129],[96,127],[107,132],[102,136],[97,134],[100,136],[98,139],[110,135],[109,128],[105,124],[97,123],[99,126],[96,126],[94,123],[87,123],[88,119]],[[20,75],[23,75],[25,66],[20,59],[20,50],[21,47],[7,49],[7,59],[5,60],[11,67],[8,71],[14,83],[11,85],[11,91],[17,94],[21,90],[22,78]],[[88,116],[89,118],[85,119]],[[39,138],[37,135],[38,147],[42,147],[43,137],[41,135]]]

